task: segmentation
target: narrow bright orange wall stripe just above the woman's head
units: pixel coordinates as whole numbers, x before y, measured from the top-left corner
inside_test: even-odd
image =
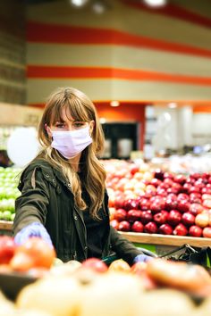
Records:
[[[39,79],[127,79],[183,82],[211,86],[211,78],[168,74],[155,71],[133,71],[117,68],[28,66],[28,78]]]

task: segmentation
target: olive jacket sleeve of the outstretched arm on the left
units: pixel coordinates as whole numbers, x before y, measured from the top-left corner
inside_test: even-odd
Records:
[[[19,189],[21,196],[15,201],[14,235],[34,221],[45,225],[46,209],[49,204],[48,183],[40,168],[29,167],[24,170]]]

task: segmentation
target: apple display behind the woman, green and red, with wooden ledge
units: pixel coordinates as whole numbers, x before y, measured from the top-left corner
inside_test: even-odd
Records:
[[[139,245],[210,245],[210,173],[173,174],[148,163],[102,161],[111,224]],[[11,231],[19,169],[0,169],[0,229]]]

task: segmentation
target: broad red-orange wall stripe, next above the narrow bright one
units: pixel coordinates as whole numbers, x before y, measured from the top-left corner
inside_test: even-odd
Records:
[[[101,44],[151,48],[173,53],[211,57],[211,50],[132,35],[115,29],[95,29],[67,25],[28,23],[28,42],[57,44]]]

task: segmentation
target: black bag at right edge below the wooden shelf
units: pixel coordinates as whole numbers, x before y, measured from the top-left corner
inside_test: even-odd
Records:
[[[193,247],[185,244],[173,249],[172,251],[163,254],[160,258],[173,260],[177,262],[188,262],[200,264],[210,270],[211,264],[211,248],[210,247]]]

